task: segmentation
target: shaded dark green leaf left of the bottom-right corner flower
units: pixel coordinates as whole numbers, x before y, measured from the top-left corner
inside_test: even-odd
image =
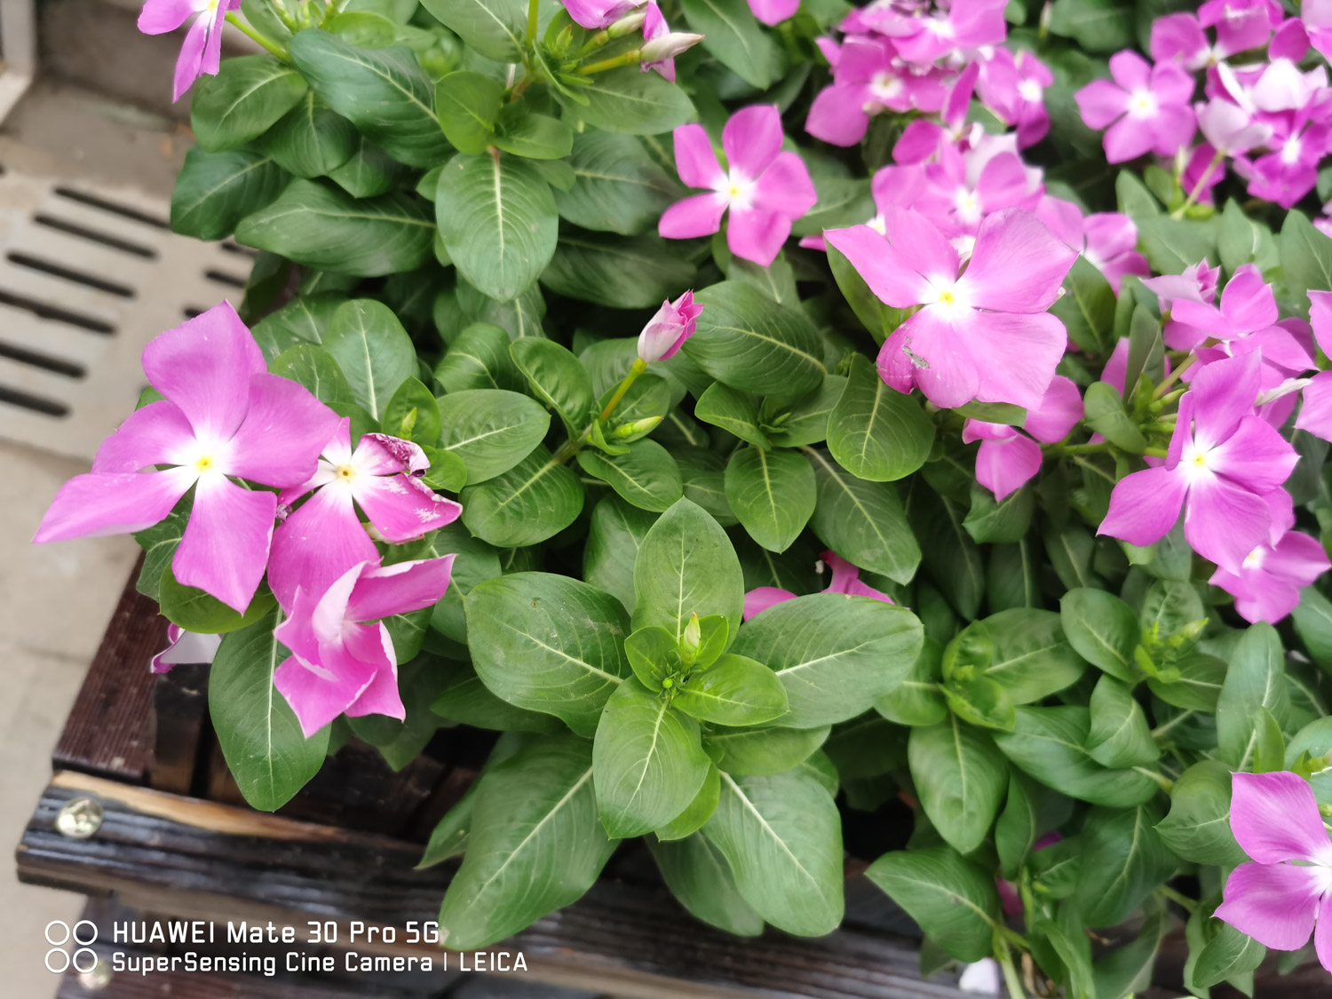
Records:
[[[1151,802],[1087,813],[1083,850],[1095,863],[1082,866],[1074,891],[1086,926],[1122,923],[1175,872],[1179,860],[1156,832],[1159,821]]]

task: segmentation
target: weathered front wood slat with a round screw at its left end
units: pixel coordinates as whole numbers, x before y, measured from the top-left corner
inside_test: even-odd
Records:
[[[91,839],[55,830],[60,807],[95,797]],[[434,919],[450,867],[412,870],[420,847],[368,832],[57,774],[19,847],[23,880],[116,892],[135,908],[181,919],[308,919],[400,928]],[[434,954],[376,943],[364,952]],[[759,995],[814,999],[956,999],[954,980],[920,982],[911,942],[843,928],[818,939],[769,932],[737,942],[685,914],[665,888],[602,880],[574,906],[494,951],[521,950],[529,980],[637,999]],[[225,994],[224,994],[225,995]]]

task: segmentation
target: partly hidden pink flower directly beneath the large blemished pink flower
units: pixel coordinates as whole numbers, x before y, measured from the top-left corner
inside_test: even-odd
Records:
[[[1040,445],[1064,440],[1082,420],[1083,405],[1078,386],[1070,378],[1055,376],[1050,382],[1039,409],[1027,412],[1023,434],[1007,424],[987,424],[968,420],[962,426],[962,440],[980,441],[976,452],[976,481],[995,494],[1000,502],[1010,493],[1036,477],[1040,472]],[[1035,440],[1032,440],[1035,438]]]

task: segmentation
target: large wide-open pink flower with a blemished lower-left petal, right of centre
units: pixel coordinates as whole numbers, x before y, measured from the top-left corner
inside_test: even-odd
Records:
[[[879,350],[883,381],[946,409],[974,398],[1038,409],[1068,342],[1046,309],[1078,254],[1030,212],[1006,209],[980,224],[959,277],[958,252],[919,213],[888,205],[884,222],[887,234],[826,233],[880,300],[923,306]]]

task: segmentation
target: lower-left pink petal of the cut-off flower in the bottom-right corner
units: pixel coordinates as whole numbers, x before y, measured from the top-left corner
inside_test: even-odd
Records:
[[[1264,947],[1295,951],[1309,940],[1319,911],[1320,875],[1288,863],[1241,863],[1225,882],[1216,918]]]

